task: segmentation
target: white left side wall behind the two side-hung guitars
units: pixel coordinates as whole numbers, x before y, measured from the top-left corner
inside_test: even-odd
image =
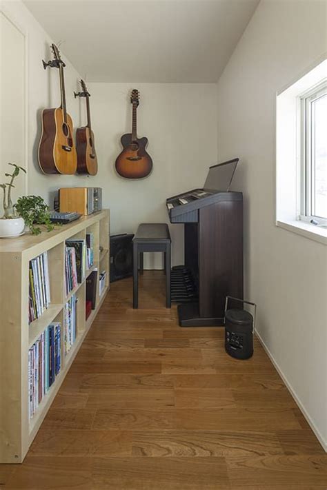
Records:
[[[3,11],[26,34],[28,50],[26,60],[28,63],[27,96],[28,96],[28,194],[39,194],[52,204],[53,191],[59,186],[79,185],[75,176],[59,176],[42,174],[37,162],[37,148],[41,136],[41,110],[44,108],[59,107],[60,89],[59,73],[57,68],[43,69],[42,59],[52,59],[50,44],[55,42],[41,28],[30,11],[21,1],[2,1]],[[64,44],[61,46],[62,58],[66,63],[65,80],[68,112],[73,121],[79,123],[79,101],[75,101],[73,91],[77,90],[77,81],[80,76],[65,57]],[[10,45],[8,45],[10,50]],[[11,94],[14,97],[14,94]],[[81,185],[88,185],[85,177],[79,179]]]

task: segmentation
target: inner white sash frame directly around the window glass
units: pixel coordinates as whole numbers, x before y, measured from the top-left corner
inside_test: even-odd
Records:
[[[314,136],[314,128],[311,125],[312,103],[327,94],[327,78],[306,90],[299,96],[299,219],[312,225],[326,227],[327,219],[316,216],[313,210],[312,178],[313,158],[311,141]]]

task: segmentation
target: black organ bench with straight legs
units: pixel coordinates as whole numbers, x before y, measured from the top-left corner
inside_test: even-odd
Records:
[[[139,306],[139,274],[143,274],[143,252],[164,252],[166,272],[166,307],[171,307],[170,297],[170,244],[166,223],[141,223],[133,238],[133,308]],[[139,261],[140,255],[140,261]]]

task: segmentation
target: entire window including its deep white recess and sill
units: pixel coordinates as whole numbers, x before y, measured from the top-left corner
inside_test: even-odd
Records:
[[[327,245],[327,59],[276,94],[276,225]]]

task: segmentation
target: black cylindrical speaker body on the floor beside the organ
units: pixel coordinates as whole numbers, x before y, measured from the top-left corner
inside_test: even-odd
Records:
[[[245,309],[226,311],[225,349],[236,359],[248,359],[253,355],[253,317]]]

